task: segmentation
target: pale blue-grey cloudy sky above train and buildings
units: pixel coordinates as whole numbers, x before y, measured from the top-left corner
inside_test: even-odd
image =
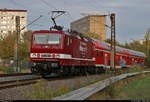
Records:
[[[0,8],[25,9],[28,24],[43,15],[29,30],[48,30],[52,26],[51,11],[64,10],[67,13],[57,23],[66,29],[70,23],[87,14],[116,14],[116,40],[129,43],[144,39],[150,27],[150,0],[0,0]],[[84,14],[84,15],[83,15]],[[110,18],[107,17],[107,25]],[[107,29],[110,38],[110,29]]]

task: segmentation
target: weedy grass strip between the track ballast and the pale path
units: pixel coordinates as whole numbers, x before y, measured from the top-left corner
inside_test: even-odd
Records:
[[[90,79],[90,77],[87,75],[85,82],[75,79],[75,85],[73,87],[70,88],[67,84],[64,83],[60,84],[59,87],[55,90],[52,90],[48,87],[48,81],[40,79],[36,84],[32,85],[32,89],[30,91],[22,89],[22,95],[24,96],[25,100],[51,100],[56,96],[63,95],[108,77],[109,75],[104,75],[103,77],[95,77]]]

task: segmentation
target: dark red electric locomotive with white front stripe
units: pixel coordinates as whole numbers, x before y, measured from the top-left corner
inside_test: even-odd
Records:
[[[92,40],[65,31],[34,31],[31,71],[41,74],[74,73],[94,66]],[[84,68],[85,67],[85,68]]]

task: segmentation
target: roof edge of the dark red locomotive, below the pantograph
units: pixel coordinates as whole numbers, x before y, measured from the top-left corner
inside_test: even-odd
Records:
[[[91,38],[88,37],[83,37],[79,34],[73,33],[73,32],[68,32],[68,31],[51,31],[51,30],[39,30],[39,31],[34,31],[33,34],[39,34],[39,33],[59,33],[59,34],[65,34],[65,35],[69,35],[69,36],[73,36],[76,37],[78,39],[84,40],[86,42],[92,42],[93,40]]]

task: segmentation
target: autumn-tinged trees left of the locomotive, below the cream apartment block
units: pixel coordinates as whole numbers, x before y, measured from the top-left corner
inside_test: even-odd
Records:
[[[19,60],[29,60],[30,42],[32,31],[27,31],[23,34],[23,42],[19,44]],[[0,58],[12,59],[15,57],[16,49],[16,33],[9,33],[0,39]]]

